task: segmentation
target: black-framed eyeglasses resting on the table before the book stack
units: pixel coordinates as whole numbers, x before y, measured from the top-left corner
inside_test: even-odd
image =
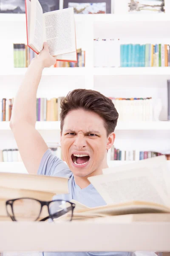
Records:
[[[44,206],[47,206],[48,211]],[[71,221],[74,208],[74,203],[65,200],[40,201],[34,198],[15,198],[6,201],[6,211],[12,221],[46,221],[61,216]]]

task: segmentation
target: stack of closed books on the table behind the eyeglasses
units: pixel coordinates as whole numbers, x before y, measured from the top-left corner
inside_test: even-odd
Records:
[[[28,175],[17,173],[0,173],[0,221],[10,221],[6,212],[6,201],[15,198],[34,198],[51,201],[54,195],[68,193],[68,178],[49,177],[44,175]],[[34,208],[31,214],[34,215]],[[17,215],[22,215],[22,205],[17,205]],[[42,212],[41,218],[48,216],[48,210]]]

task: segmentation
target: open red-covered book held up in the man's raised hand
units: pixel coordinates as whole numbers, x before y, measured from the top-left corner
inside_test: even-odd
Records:
[[[27,45],[37,54],[47,42],[57,61],[77,62],[74,9],[43,13],[38,0],[25,0]]]

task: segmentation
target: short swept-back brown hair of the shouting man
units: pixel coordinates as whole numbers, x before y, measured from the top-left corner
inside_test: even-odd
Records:
[[[72,90],[66,97],[61,99],[60,107],[61,132],[65,116],[75,109],[93,111],[102,117],[107,136],[114,131],[119,116],[112,100],[95,90]]]

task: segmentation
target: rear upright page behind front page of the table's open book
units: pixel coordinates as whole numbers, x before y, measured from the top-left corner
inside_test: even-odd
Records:
[[[136,163],[128,163],[127,165],[103,169],[103,174],[113,172],[129,172],[135,170],[141,172],[141,168],[150,172],[159,183],[159,187],[170,198],[170,172],[168,170],[165,156],[152,157],[145,160],[140,160]]]

